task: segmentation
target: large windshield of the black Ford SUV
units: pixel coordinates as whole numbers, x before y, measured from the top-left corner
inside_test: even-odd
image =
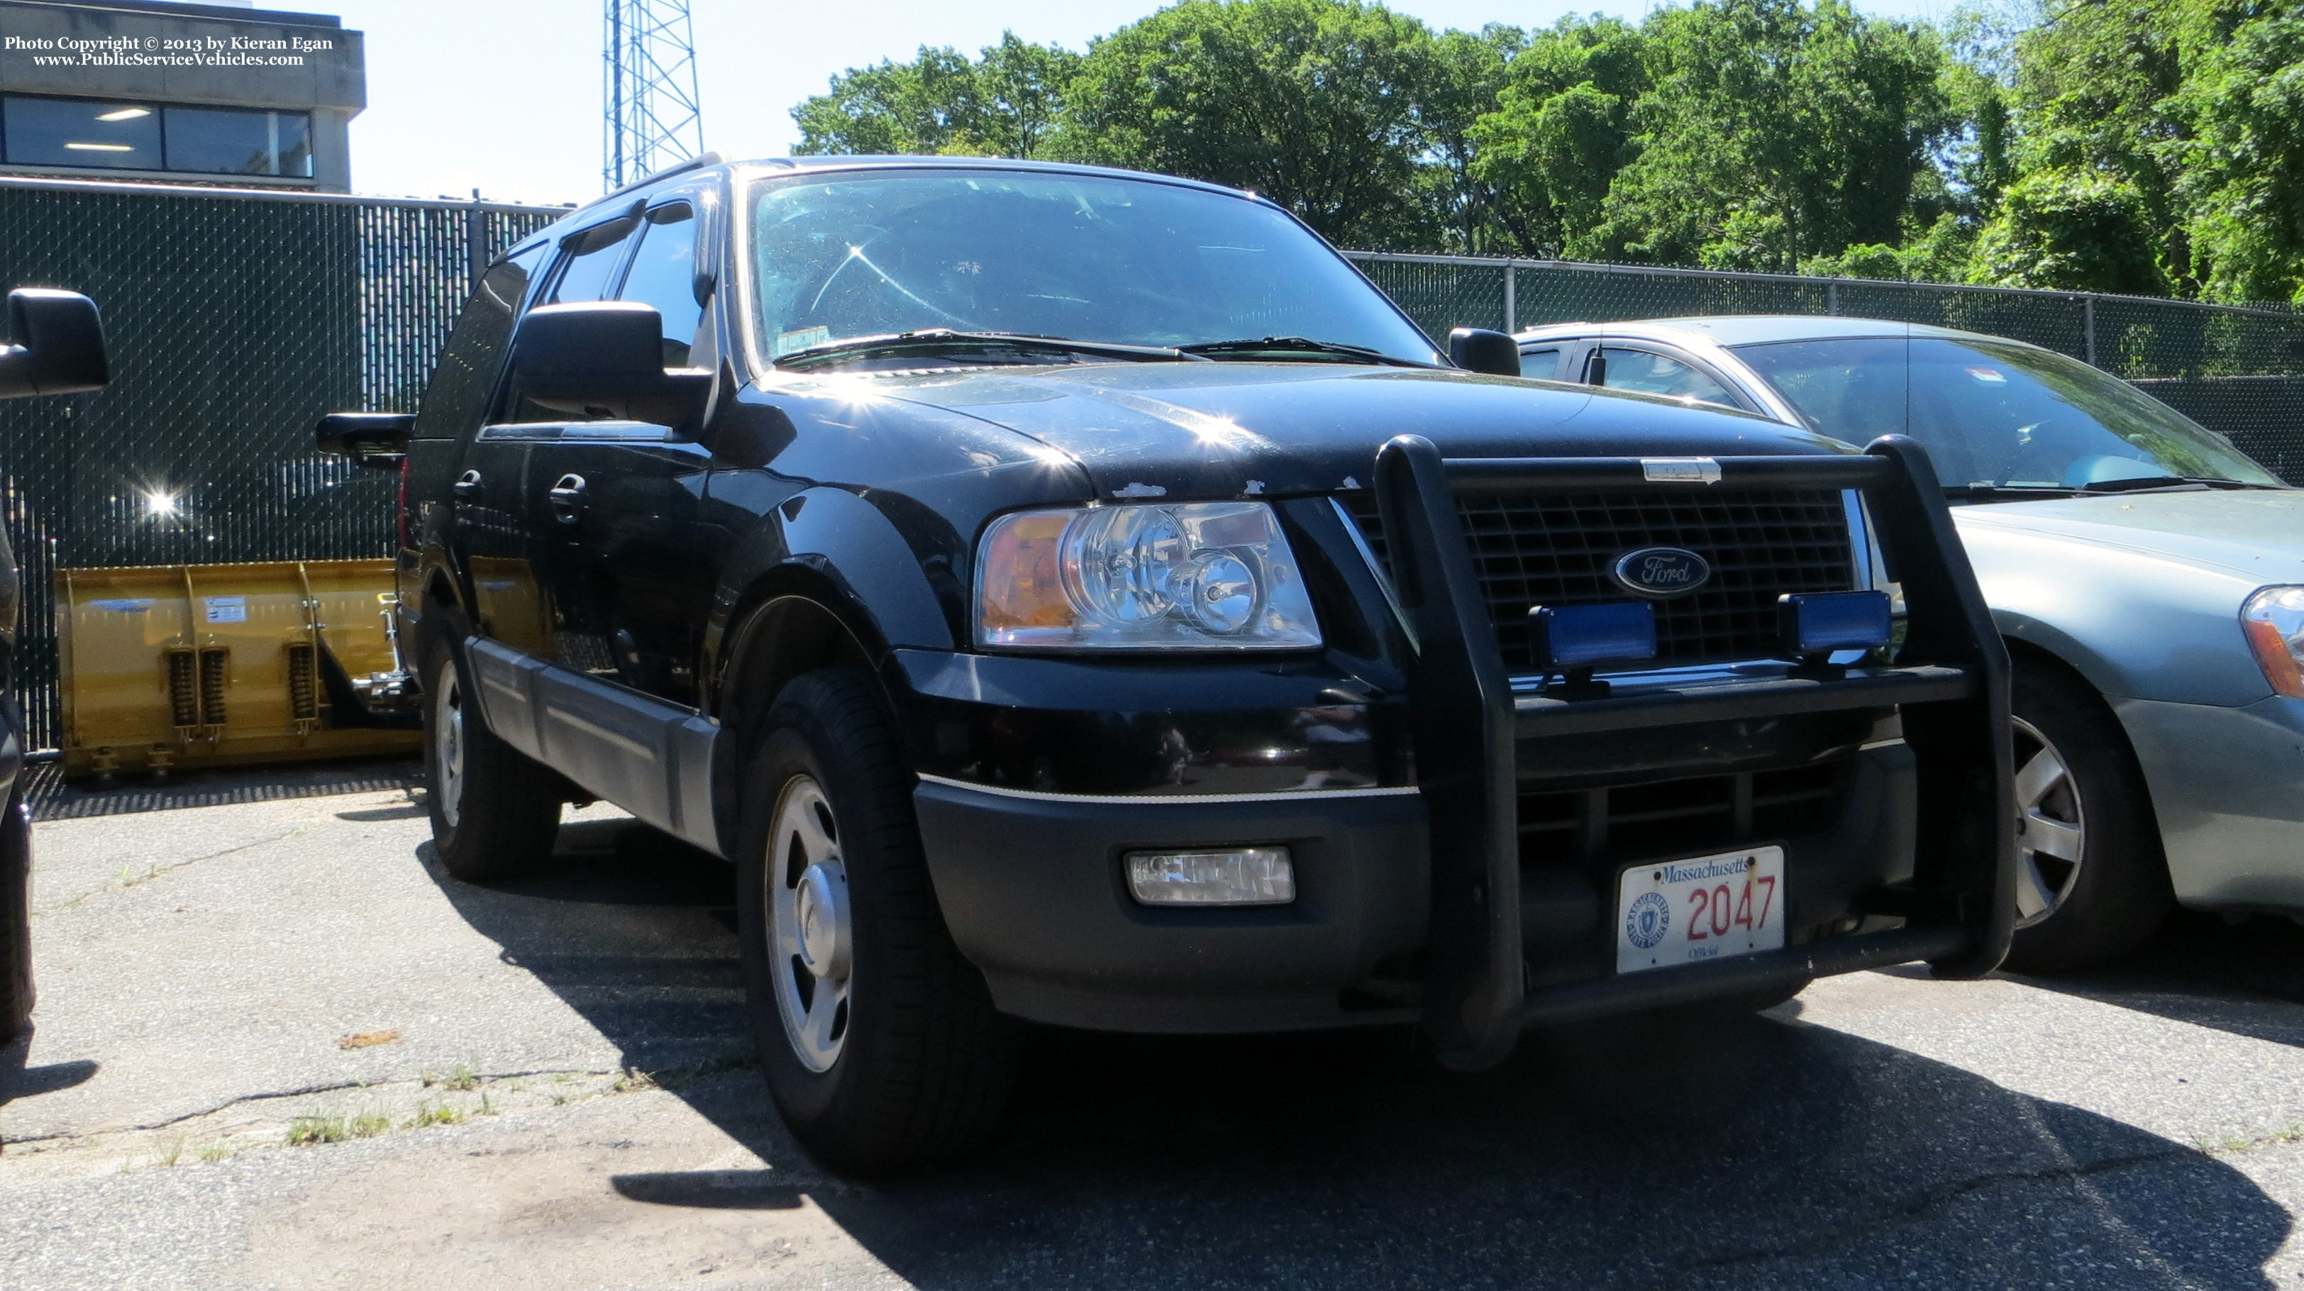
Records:
[[[1438,360],[1293,219],[1180,184],[1023,171],[767,180],[751,258],[767,360],[931,327],[1129,346],[1309,337]]]

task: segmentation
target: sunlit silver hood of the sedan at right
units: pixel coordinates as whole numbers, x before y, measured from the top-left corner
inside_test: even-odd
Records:
[[[2304,583],[2304,489],[1977,503],[1951,516],[1963,535],[2053,535],[2256,583]]]

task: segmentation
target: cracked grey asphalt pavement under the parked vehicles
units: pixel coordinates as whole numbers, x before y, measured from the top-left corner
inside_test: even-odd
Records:
[[[44,800],[0,1286],[2304,1286],[2304,929],[1530,1035],[1041,1030],[901,1185],[767,1109],[728,867],[447,878],[403,765]]]

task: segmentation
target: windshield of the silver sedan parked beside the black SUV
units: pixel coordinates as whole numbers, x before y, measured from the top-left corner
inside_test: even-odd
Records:
[[[2159,399],[2032,346],[1857,337],[1735,355],[1818,431],[1855,445],[1908,433],[1954,486],[2083,489],[2161,475],[2279,484]]]

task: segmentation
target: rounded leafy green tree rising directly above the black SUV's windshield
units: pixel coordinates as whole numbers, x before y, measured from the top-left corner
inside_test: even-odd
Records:
[[[1419,244],[1447,83],[1431,30],[1380,5],[1184,0],[1090,41],[1055,148],[1253,189],[1341,244]]]

